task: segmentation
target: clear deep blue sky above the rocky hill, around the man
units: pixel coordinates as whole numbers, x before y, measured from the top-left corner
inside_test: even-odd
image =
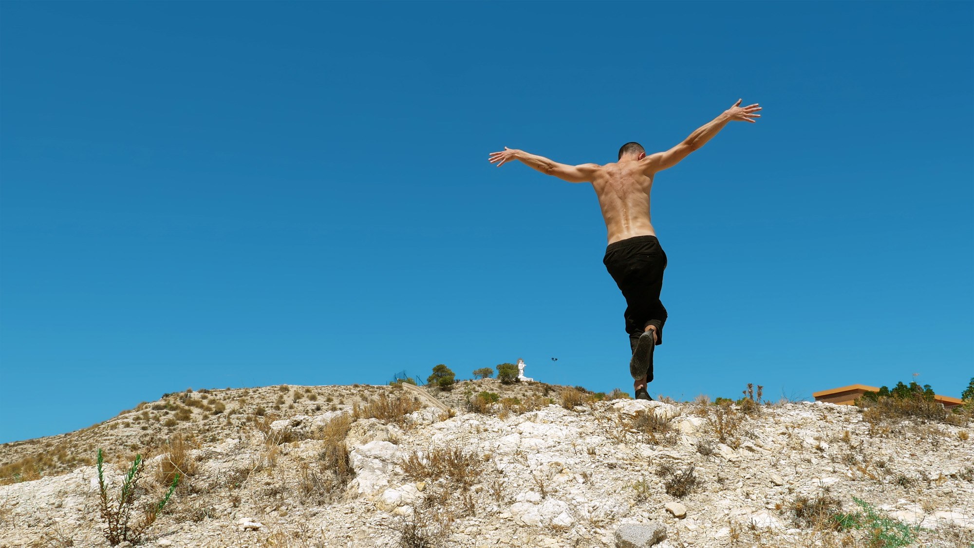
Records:
[[[656,176],[652,394],[974,376],[971,2],[0,4],[0,442],[524,358],[631,389],[580,164]],[[553,362],[550,358],[558,358]]]

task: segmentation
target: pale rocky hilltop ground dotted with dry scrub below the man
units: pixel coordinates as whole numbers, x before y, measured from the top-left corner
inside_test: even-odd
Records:
[[[186,391],[0,447],[0,548],[109,546],[98,449],[109,503],[145,456],[133,528],[179,474],[140,546],[968,548],[969,428],[494,379]]]

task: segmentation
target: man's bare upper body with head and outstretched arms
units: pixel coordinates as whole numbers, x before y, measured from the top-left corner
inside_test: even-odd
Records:
[[[599,198],[610,244],[635,236],[655,236],[656,231],[650,220],[650,190],[654,176],[657,172],[675,166],[703,146],[724,129],[728,122],[740,120],[754,123],[755,118],[761,117],[756,114],[761,110],[757,103],[744,107],[739,106],[740,103],[741,100],[737,99],[731,108],[697,129],[680,144],[649,156],[638,143],[626,143],[619,151],[617,162],[601,166],[559,164],[543,156],[507,147],[500,152],[491,153],[490,161],[500,167],[511,160],[520,160],[544,174],[569,182],[590,182]]]

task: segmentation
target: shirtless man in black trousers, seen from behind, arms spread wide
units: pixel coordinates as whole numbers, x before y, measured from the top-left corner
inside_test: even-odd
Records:
[[[647,156],[638,142],[627,142],[618,150],[618,162],[604,166],[567,166],[506,146],[503,151],[490,155],[490,161],[498,167],[520,160],[543,174],[568,182],[592,183],[609,232],[609,247],[602,262],[625,297],[625,331],[629,333],[632,349],[629,373],[634,379],[632,387],[637,399],[652,399],[647,383],[653,381],[653,350],[663,341],[663,324],[666,323],[666,309],[659,301],[666,254],[659,247],[650,222],[653,177],[656,172],[672,168],[703,146],[728,122],[753,124],[761,117],[757,114],[761,110],[758,103],[748,106],[740,106],[740,103],[741,99],[737,99],[731,108],[665,152]]]

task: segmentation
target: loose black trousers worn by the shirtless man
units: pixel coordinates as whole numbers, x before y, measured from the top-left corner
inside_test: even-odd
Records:
[[[659,292],[666,254],[659,240],[656,236],[636,236],[609,244],[602,262],[625,297],[625,333],[629,333],[632,350],[648,326],[656,326],[656,344],[662,344],[666,309],[659,302]],[[652,379],[651,371],[647,380]]]

